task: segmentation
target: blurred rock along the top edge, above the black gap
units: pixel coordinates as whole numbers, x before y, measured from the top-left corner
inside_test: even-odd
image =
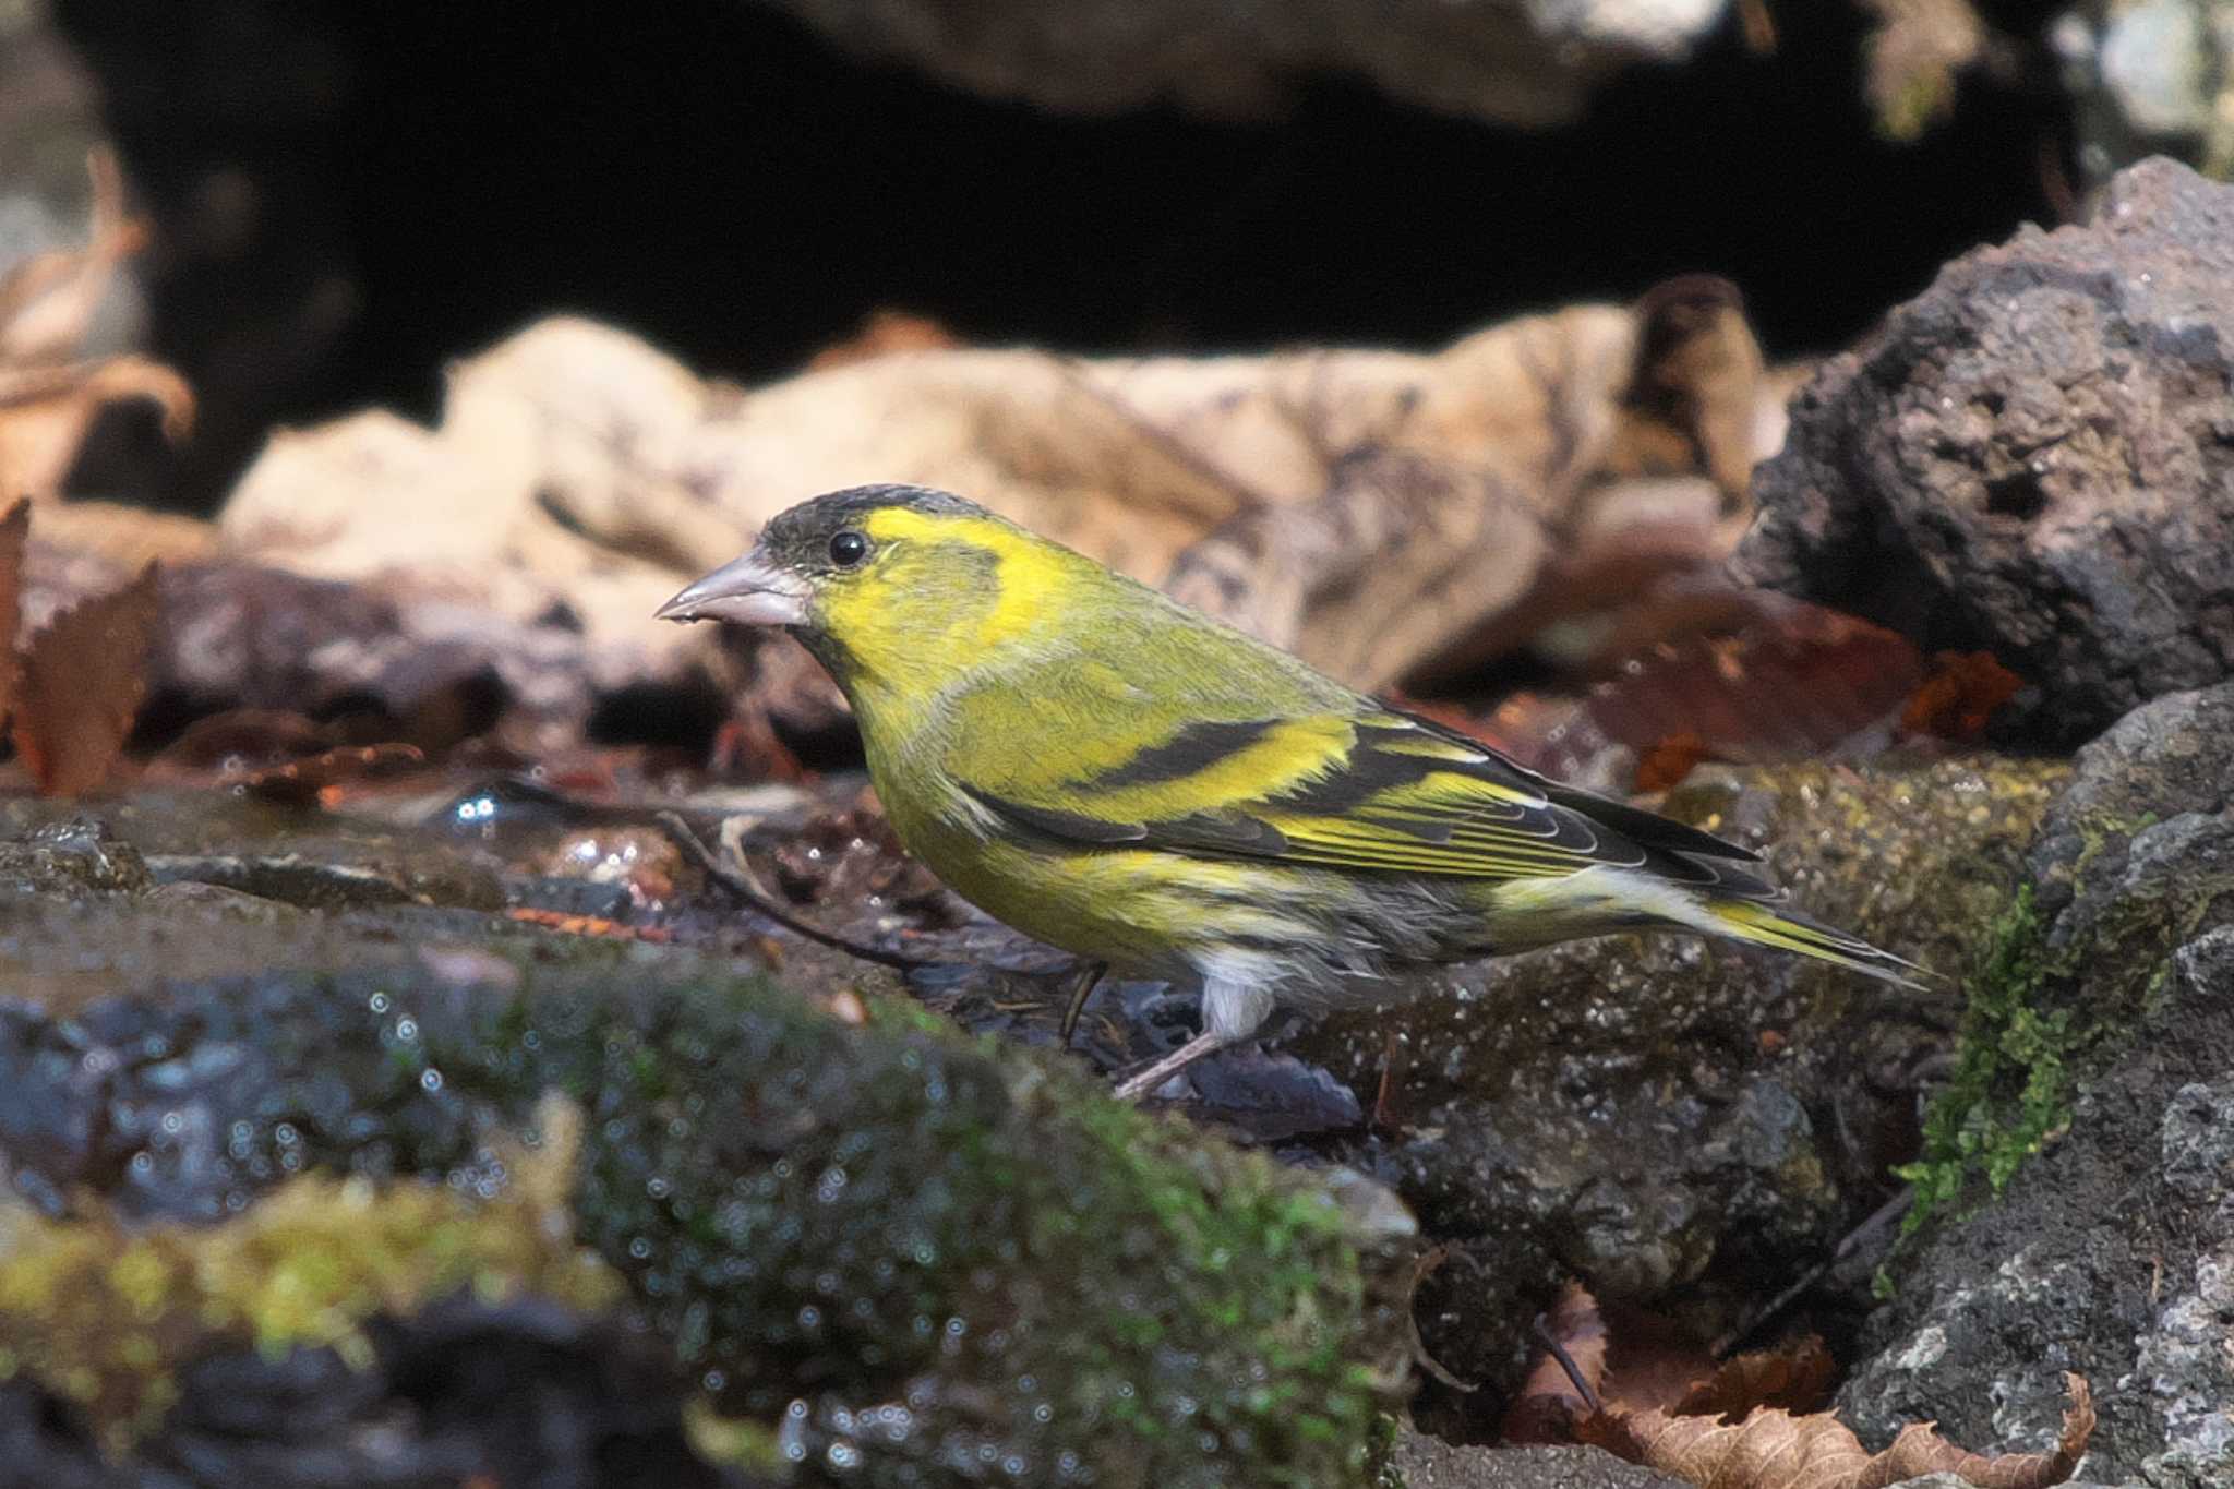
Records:
[[[1278,109],[1291,78],[1361,74],[1394,98],[1508,125],[1568,123],[1591,85],[1680,60],[1727,0],[762,0],[871,58],[1072,114],[1177,100]]]

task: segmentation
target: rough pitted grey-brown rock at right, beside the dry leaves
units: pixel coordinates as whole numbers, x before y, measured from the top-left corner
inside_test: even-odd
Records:
[[[2234,674],[2234,188],[2145,161],[2095,221],[1979,248],[1832,359],[1738,567],[2033,690],[2073,746]]]

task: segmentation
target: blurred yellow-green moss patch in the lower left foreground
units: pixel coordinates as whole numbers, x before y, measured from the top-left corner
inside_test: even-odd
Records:
[[[366,1319],[460,1290],[605,1308],[621,1281],[563,1223],[579,1118],[545,1112],[543,1150],[514,1159],[514,1183],[491,1203],[438,1183],[317,1174],[201,1228],[0,1210],[0,1377],[31,1375],[123,1453],[170,1409],[176,1368],[217,1348],[333,1348],[362,1366]]]

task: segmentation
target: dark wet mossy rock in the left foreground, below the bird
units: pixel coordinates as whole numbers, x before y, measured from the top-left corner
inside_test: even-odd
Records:
[[[371,958],[0,1014],[0,1063],[36,1087],[18,1101],[47,1103],[40,1127],[0,1123],[0,1141],[49,1241],[114,1232],[69,1194],[118,1161],[168,1172],[176,1212],[248,1208],[208,1237],[255,1223],[299,1172],[503,1205],[509,1145],[563,1094],[585,1116],[574,1235],[626,1277],[708,1420],[777,1444],[791,1482],[1361,1482],[1372,1413],[1403,1377],[1401,1301],[1381,1281],[1405,1268],[1374,1255],[1407,1230],[1401,1212],[1361,1217],[1309,1174],[911,1005],[851,1027],[764,978],[637,947],[565,967]],[[87,1049],[105,1076],[74,1085]],[[176,1121],[83,1161],[74,1112],[132,1103]],[[217,1141],[188,1163],[165,1127]],[[42,1165],[63,1172],[40,1183]],[[382,1257],[393,1241],[364,1228]],[[188,1255],[172,1246],[192,1248],[152,1255]],[[31,1288],[9,1266],[0,1297]],[[159,1293],[183,1286],[168,1261],[143,1270]],[[40,1368],[38,1310],[13,1328]],[[237,1310],[210,1337],[241,1331],[264,1333]],[[150,1371],[188,1353],[165,1333]],[[136,1402],[103,1426],[143,1431],[161,1391],[118,1389],[112,1364],[92,1395],[60,1366],[49,1384]]]

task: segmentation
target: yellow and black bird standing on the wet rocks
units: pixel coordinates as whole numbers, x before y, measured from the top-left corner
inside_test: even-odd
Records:
[[[1407,971],[1608,931],[1915,971],[1783,909],[1745,848],[1535,775],[943,491],[802,502],[659,616],[791,630],[853,703],[909,853],[1028,935],[1200,987],[1202,1034],[1119,1096],[1273,1007],[1381,1002]]]

